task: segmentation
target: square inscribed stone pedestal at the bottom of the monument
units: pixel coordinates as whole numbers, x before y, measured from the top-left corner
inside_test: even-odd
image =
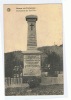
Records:
[[[23,52],[23,55],[23,80],[30,78],[39,79],[39,77],[41,77],[41,52],[38,50],[28,50]]]

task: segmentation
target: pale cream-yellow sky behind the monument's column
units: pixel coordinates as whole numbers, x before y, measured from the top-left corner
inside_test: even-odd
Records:
[[[38,47],[62,44],[62,4],[4,5],[4,52],[27,50],[28,24],[25,17],[31,14],[38,17]]]

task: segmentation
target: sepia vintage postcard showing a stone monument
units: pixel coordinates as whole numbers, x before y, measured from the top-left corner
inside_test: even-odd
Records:
[[[64,95],[62,4],[4,4],[5,95]]]

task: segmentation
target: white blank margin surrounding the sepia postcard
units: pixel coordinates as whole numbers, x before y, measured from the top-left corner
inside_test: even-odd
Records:
[[[68,82],[68,77],[67,77],[67,74],[65,74],[65,73],[67,73],[67,68],[66,68],[66,66],[67,66],[67,62],[66,62],[66,58],[65,58],[65,56],[64,56],[64,95],[61,95],[61,96],[52,96],[52,95],[48,95],[48,96],[4,96],[4,94],[5,94],[5,87],[4,87],[4,30],[3,30],[3,4],[47,4],[47,3],[62,3],[61,2],[62,0],[1,0],[0,1],[0,3],[1,3],[1,5],[0,5],[0,15],[1,15],[1,18],[0,18],[0,22],[1,22],[1,25],[0,25],[0,27],[1,27],[1,30],[0,30],[0,32],[1,32],[1,34],[0,34],[0,64],[1,64],[1,67],[0,67],[0,79],[1,79],[1,82],[0,82],[0,86],[1,86],[1,91],[0,91],[0,95],[1,95],[1,97],[2,97],[2,99],[1,100],[3,100],[4,98],[5,98],[5,100],[25,100],[25,99],[38,99],[38,100],[40,100],[40,99],[52,99],[52,100],[55,100],[55,98],[58,100],[58,99],[62,99],[62,100],[64,100],[64,98],[66,97],[68,97],[68,90],[67,90],[67,82]],[[64,5],[63,5],[64,6]],[[65,6],[66,7],[66,6]],[[64,9],[63,9],[63,11],[64,11]],[[63,16],[63,19],[64,19],[64,16]],[[64,20],[65,21],[65,20]],[[64,31],[64,27],[63,27],[63,33],[65,33],[65,31]],[[64,49],[63,49],[63,51],[64,51],[64,55],[66,54],[66,51],[65,50],[67,50],[66,49],[66,46],[65,46],[65,43],[66,43],[66,36],[64,36],[63,35],[63,47],[64,47]]]

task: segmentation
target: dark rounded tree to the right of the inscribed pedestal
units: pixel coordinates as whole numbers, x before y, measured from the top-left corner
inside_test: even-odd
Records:
[[[49,72],[51,76],[55,75],[55,71],[60,71],[60,56],[55,52],[49,52],[44,60],[45,70]]]

